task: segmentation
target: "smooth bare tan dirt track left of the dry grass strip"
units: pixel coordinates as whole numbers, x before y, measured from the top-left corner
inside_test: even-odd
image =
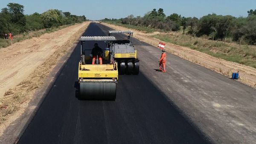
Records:
[[[8,89],[16,86],[36,67],[41,65],[56,49],[84,26],[77,24],[41,37],[14,43],[0,49],[0,98]]]

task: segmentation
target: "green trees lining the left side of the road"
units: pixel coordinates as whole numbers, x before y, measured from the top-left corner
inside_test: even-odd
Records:
[[[62,25],[81,23],[86,17],[73,15],[70,12],[62,12],[58,9],[50,9],[42,14],[24,14],[24,6],[18,3],[9,3],[0,12],[0,37],[12,32],[20,34],[31,30],[39,30]]]

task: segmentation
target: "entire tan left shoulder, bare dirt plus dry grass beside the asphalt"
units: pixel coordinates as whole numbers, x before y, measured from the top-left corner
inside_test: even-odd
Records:
[[[35,92],[49,85],[52,69],[64,63],[61,58],[73,51],[88,25],[79,23],[0,49],[0,135],[37,99]]]

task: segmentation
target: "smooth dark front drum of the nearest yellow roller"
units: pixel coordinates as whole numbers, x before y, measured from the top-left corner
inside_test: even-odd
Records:
[[[79,84],[79,96],[83,100],[115,101],[116,83],[81,82]]]

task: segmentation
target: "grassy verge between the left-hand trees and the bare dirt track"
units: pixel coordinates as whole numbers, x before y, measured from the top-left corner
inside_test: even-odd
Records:
[[[43,35],[45,33],[52,33],[52,32],[58,31],[60,29],[66,28],[68,26],[72,26],[72,25],[74,25],[74,24],[69,24],[69,25],[64,25],[64,26],[59,26],[59,27],[52,27],[52,28],[47,28],[47,29],[41,29],[41,30],[38,30],[35,32],[25,32],[25,33],[23,33],[23,35],[14,36],[13,40],[0,39],[0,48],[10,46],[13,43],[17,43],[22,40],[30,39],[32,37],[40,37],[41,35]]]

